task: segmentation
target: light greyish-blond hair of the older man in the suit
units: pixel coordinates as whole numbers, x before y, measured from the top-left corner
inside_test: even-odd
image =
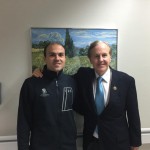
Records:
[[[106,45],[109,47],[109,49],[110,49],[110,51],[109,51],[110,55],[112,55],[111,47],[109,46],[109,44],[108,44],[107,42],[94,41],[94,42],[92,42],[92,43],[90,44],[90,47],[88,48],[88,57],[89,57],[89,58],[90,58],[90,56],[91,56],[91,51],[92,51],[92,49],[93,49],[94,47],[96,47],[97,45],[99,45],[100,43],[106,44]]]

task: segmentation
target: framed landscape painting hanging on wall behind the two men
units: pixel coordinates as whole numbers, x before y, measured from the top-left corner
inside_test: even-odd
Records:
[[[90,43],[100,40],[112,49],[111,67],[117,69],[117,29],[31,28],[32,69],[43,68],[43,50],[49,42],[60,42],[66,50],[64,72],[74,74],[79,67],[92,67],[87,57]]]

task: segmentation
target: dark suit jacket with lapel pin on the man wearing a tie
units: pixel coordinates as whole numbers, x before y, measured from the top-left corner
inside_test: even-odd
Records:
[[[133,77],[111,69],[110,96],[104,111],[98,116],[93,96],[95,72],[80,68],[74,78],[79,99],[74,102],[76,112],[84,116],[83,149],[87,150],[96,124],[106,150],[129,150],[141,145],[141,125]]]

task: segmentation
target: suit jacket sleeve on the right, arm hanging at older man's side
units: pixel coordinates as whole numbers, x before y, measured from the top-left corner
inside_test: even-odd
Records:
[[[141,124],[135,80],[133,78],[131,78],[127,96],[127,116],[131,146],[138,147],[141,145]]]

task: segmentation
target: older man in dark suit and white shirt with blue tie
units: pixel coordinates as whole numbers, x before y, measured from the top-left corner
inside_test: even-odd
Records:
[[[88,50],[93,69],[80,68],[74,75],[80,97],[74,109],[84,116],[84,150],[138,150],[141,145],[135,80],[109,67],[111,53],[107,43],[93,42]],[[95,102],[98,77],[102,78],[104,93],[100,113]]]

